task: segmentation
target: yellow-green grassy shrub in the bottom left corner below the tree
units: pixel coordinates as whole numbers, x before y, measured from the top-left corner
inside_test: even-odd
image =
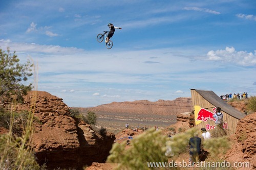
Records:
[[[2,115],[8,115],[6,121],[9,121],[9,133],[0,136],[0,169],[39,169],[32,152],[31,136],[33,133],[33,113],[2,112]],[[26,119],[24,119],[26,117]],[[14,123],[15,122],[15,123]],[[18,123],[19,136],[13,136],[13,131]],[[24,125],[23,131],[20,130],[20,122]]]

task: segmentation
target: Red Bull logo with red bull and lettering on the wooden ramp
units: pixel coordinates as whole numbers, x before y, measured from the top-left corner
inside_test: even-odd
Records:
[[[207,122],[208,120],[212,120],[215,122],[214,114],[216,113],[216,107],[212,109],[213,112],[210,112],[209,110],[206,110],[204,108],[201,108],[200,106],[195,106],[195,123],[196,125],[199,125],[203,122]],[[211,130],[214,129],[215,126],[211,126],[210,124],[206,124],[205,129]],[[227,123],[223,124],[223,128],[227,129]]]

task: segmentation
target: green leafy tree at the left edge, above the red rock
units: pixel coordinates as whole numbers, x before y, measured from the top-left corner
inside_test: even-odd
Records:
[[[19,59],[14,51],[7,53],[0,49],[0,100],[4,101],[23,101],[23,95],[32,89],[32,83],[24,85],[23,82],[32,76],[31,67],[33,64],[28,60],[24,64],[19,63]]]

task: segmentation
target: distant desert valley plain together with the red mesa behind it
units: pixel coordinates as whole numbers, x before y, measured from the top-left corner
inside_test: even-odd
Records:
[[[134,102],[112,102],[97,107],[79,108],[80,112],[95,112],[98,116],[97,125],[106,127],[113,133],[130,127],[165,128],[177,122],[177,114],[192,111],[191,98],[177,98],[173,101],[147,100]]]

